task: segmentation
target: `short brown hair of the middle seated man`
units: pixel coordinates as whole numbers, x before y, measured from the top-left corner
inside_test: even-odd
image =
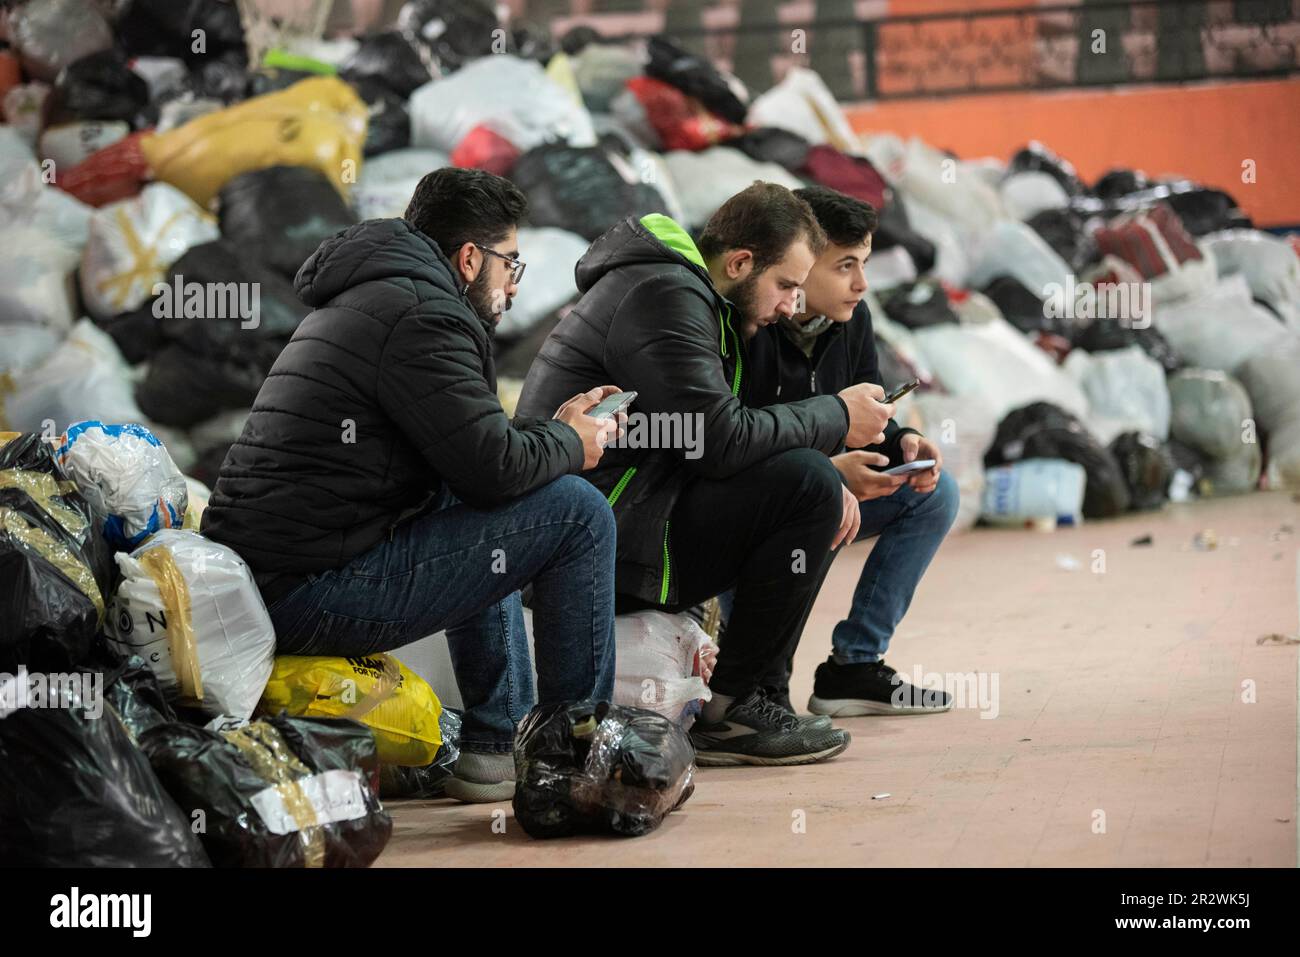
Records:
[[[708,217],[696,246],[706,260],[728,250],[749,250],[754,272],[760,273],[798,239],[807,241],[814,256],[826,248],[826,233],[812,209],[784,186],[755,179]]]

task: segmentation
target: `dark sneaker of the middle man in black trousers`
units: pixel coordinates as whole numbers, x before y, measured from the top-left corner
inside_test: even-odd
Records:
[[[848,731],[803,724],[760,690],[733,701],[720,722],[701,718],[690,728],[701,767],[811,765],[833,758],[850,740]]]

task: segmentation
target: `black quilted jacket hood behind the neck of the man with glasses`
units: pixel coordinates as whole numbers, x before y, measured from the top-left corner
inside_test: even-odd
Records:
[[[425,281],[460,298],[451,263],[438,243],[406,220],[367,220],[322,242],[294,277],[294,291],[312,308],[374,281]]]

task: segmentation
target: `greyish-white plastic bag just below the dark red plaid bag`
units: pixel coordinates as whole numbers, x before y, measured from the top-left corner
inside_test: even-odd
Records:
[[[1221,280],[1205,295],[1156,302],[1152,322],[1174,352],[1202,369],[1235,372],[1247,359],[1279,347],[1287,328],[1251,299],[1240,273]]]

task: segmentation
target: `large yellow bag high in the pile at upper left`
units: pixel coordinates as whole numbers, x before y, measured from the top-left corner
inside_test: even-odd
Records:
[[[312,77],[140,140],[155,179],[205,207],[240,173],[318,169],[347,198],[365,142],[365,103],[342,79]]]

